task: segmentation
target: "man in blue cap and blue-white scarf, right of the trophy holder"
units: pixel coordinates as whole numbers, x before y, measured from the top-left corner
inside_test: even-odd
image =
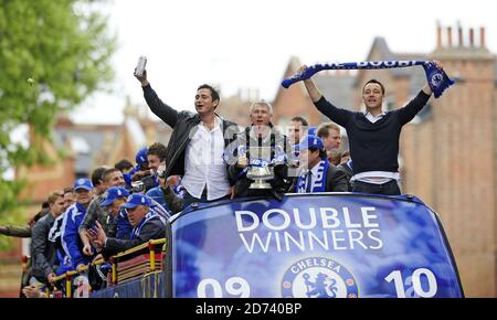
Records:
[[[322,140],[314,135],[304,136],[300,150],[300,174],[293,188],[297,193],[346,192],[347,179],[326,157]]]

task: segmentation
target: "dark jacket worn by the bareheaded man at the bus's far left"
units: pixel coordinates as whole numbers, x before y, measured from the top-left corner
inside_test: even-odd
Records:
[[[49,213],[34,224],[31,232],[32,275],[39,280],[45,280],[46,276],[54,271],[55,243],[49,241],[49,232],[54,221],[52,213]]]

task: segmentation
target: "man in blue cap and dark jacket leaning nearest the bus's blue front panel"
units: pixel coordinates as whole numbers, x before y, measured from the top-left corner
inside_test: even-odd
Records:
[[[151,200],[145,194],[134,193],[123,207],[128,211],[128,220],[133,226],[129,239],[107,237],[102,225],[96,222],[96,227],[88,230],[92,244],[102,250],[104,257],[110,257],[125,252],[150,239],[159,239],[166,236],[166,221],[150,210]]]

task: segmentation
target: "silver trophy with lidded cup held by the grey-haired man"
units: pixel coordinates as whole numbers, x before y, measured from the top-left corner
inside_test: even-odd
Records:
[[[254,180],[250,189],[272,189],[273,186],[267,182],[274,179],[274,169],[269,166],[271,147],[250,147],[248,152],[252,160],[248,163],[246,178]],[[260,163],[252,163],[253,161]]]

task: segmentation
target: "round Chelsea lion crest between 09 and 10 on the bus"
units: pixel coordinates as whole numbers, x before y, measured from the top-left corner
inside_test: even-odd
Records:
[[[358,298],[352,274],[341,264],[324,257],[294,263],[282,280],[284,298]]]

